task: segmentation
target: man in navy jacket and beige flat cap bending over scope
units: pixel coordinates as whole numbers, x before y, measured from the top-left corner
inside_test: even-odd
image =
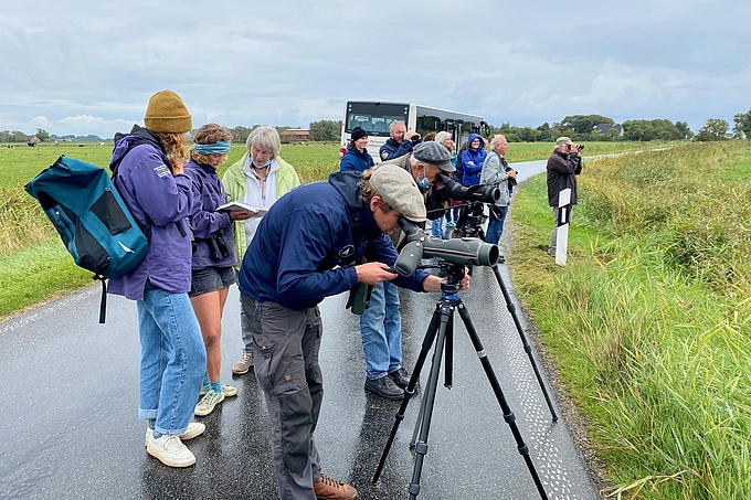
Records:
[[[359,284],[440,291],[442,278],[388,269],[398,254],[387,234],[399,217],[425,222],[413,177],[394,164],[336,172],[281,198],[261,221],[240,269],[243,307],[253,311],[255,375],[272,421],[282,500],[355,499],[357,490],[320,472],[313,433],[324,397],[318,304]],[[462,288],[469,286],[465,276]]]

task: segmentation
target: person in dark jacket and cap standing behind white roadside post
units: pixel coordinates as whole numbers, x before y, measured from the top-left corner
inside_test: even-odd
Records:
[[[559,137],[556,140],[553,153],[548,158],[548,204],[553,209],[553,231],[550,234],[550,246],[548,255],[556,255],[558,243],[558,220],[560,208],[558,206],[559,195],[564,189],[571,189],[571,201],[569,206],[569,217],[573,205],[577,204],[577,175],[582,172],[582,158],[579,156],[581,146],[574,143],[568,137]]]

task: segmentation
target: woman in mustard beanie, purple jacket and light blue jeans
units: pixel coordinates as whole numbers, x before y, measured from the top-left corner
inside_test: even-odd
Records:
[[[182,443],[205,425],[191,423],[205,371],[205,350],[188,299],[192,242],[188,216],[192,185],[183,173],[190,113],[171,91],[156,93],[144,117],[146,128],[115,137],[114,182],[145,228],[144,260],[110,294],[136,300],[140,336],[138,417],[148,421],[146,450],[170,467],[189,467],[195,456]]]

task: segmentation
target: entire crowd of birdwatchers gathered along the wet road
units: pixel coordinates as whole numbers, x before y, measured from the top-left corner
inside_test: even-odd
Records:
[[[486,151],[485,139],[472,134],[457,151],[448,132],[422,138],[393,121],[376,166],[367,132],[356,127],[340,171],[300,185],[273,127],[256,127],[247,151],[220,179],[216,168],[231,146],[224,127],[200,127],[186,152],[192,118],[171,91],[151,96],[144,124],[116,137],[112,162],[119,162],[114,181],[148,235],[148,252],[110,280],[109,292],[137,305],[147,453],[170,467],[193,465],[184,442],[205,430],[193,416],[237,394],[220,376],[222,316],[236,283],[243,351],[232,373],[253,370],[264,392],[281,498],[357,498],[353,487],[321,472],[313,437],[324,391],[318,304],[369,288],[359,319],[364,390],[403,398],[410,374],[402,365],[398,287],[441,291],[442,278],[389,270],[406,244],[400,217],[451,237],[464,209],[454,205],[442,174],[464,185],[491,184],[501,195],[490,208],[486,241],[498,244],[516,178],[506,138],[495,136]],[[561,138],[548,162],[549,189],[573,188],[573,203],[578,151]],[[549,198],[558,216],[557,194]],[[461,287],[468,286],[466,275]]]

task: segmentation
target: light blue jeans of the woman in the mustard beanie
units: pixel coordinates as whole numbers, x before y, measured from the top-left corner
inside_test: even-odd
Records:
[[[138,418],[156,430],[186,432],[201,392],[207,353],[188,294],[147,289],[138,300],[141,359]]]

